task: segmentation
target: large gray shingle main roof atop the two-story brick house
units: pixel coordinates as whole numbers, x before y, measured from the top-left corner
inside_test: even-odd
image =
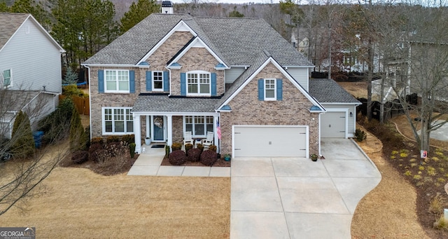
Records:
[[[258,18],[200,18],[153,13],[86,60],[85,64],[137,64],[180,20],[229,65],[250,65],[267,50],[283,66],[311,66],[265,20]]]

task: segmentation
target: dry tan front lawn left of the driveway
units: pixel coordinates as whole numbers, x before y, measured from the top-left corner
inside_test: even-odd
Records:
[[[1,226],[35,226],[37,238],[229,238],[230,178],[102,176],[56,168]]]

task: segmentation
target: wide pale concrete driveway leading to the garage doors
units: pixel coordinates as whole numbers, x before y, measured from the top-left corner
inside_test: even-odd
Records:
[[[325,159],[234,158],[230,238],[351,238],[356,205],[381,174],[351,139],[323,139]]]

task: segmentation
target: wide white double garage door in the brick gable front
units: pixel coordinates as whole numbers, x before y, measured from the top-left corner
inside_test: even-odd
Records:
[[[236,126],[235,157],[306,157],[306,126]]]

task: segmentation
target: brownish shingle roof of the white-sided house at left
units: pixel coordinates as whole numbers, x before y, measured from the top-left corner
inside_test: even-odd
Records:
[[[0,49],[29,17],[29,13],[0,13]]]

